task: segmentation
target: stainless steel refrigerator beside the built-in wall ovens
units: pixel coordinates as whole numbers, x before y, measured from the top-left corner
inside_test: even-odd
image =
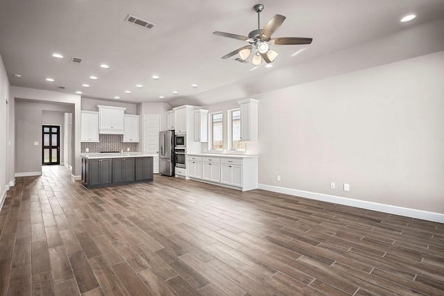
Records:
[[[159,173],[174,175],[174,131],[167,130],[159,134]]]

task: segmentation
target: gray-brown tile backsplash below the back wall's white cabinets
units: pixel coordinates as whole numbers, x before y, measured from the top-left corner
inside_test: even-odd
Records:
[[[130,148],[130,152],[139,151],[139,143],[122,143],[121,134],[99,134],[99,143],[80,143],[80,152],[86,153],[86,148],[89,148],[89,153],[100,153],[103,151],[127,151],[126,148]]]

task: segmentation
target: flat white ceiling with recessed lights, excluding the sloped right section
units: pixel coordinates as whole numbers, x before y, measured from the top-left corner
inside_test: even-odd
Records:
[[[222,60],[246,42],[212,32],[248,35],[257,29],[257,3],[265,6],[261,27],[275,14],[287,17],[273,37],[312,37],[313,43],[274,46],[280,55],[271,69],[264,63],[255,69],[236,56]],[[411,13],[418,17],[400,22]],[[128,24],[128,14],[156,26],[148,31]],[[13,86],[120,96],[116,101],[128,103],[209,105],[291,85],[280,70],[443,16],[443,0],[0,0],[0,54]],[[83,61],[72,64],[71,57]]]

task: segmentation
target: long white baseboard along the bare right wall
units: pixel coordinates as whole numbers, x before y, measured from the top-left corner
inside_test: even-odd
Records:
[[[289,188],[271,186],[266,184],[259,184],[258,188],[266,191],[273,191],[276,193],[284,193],[288,195],[300,196],[301,198],[309,198],[311,200],[321,200],[324,202],[332,202],[335,204],[343,204],[346,206],[357,207],[360,209],[369,209],[372,211],[381,211],[387,214],[444,223],[444,214],[435,213],[432,211],[422,211],[419,209],[397,207],[391,204],[379,204],[377,202],[354,200],[352,198],[341,198],[340,196],[335,196],[335,195],[302,191],[297,189],[289,189]]]

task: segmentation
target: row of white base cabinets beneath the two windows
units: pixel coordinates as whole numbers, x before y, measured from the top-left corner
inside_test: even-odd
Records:
[[[188,178],[248,191],[257,189],[258,157],[253,155],[205,154],[188,156]],[[200,171],[201,170],[201,171]]]

